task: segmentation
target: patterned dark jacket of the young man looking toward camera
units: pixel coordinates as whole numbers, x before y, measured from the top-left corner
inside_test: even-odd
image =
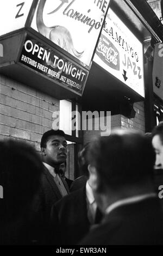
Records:
[[[68,185],[62,179],[65,188],[68,192]],[[35,212],[34,240],[36,244],[51,244],[52,243],[52,229],[50,225],[50,216],[52,205],[62,198],[57,184],[55,184],[54,177],[49,173],[48,169],[43,166],[43,172],[40,178],[39,191],[34,200],[33,211]]]

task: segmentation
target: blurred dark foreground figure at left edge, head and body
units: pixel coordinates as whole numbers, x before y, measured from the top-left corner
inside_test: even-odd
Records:
[[[39,200],[35,201],[42,162],[29,145],[0,142],[0,245],[33,245],[41,234]],[[38,204],[35,204],[38,202]]]

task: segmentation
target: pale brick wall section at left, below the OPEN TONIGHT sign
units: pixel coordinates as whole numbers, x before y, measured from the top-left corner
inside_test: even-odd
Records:
[[[52,129],[59,100],[0,75],[0,139],[27,141],[40,151],[40,139]]]

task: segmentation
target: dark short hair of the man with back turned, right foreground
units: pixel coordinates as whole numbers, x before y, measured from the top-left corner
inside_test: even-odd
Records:
[[[96,167],[99,184],[123,186],[152,176],[154,150],[137,132],[116,131],[92,143],[89,162]]]

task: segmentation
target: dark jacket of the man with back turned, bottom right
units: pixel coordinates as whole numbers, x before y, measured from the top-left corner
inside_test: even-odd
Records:
[[[80,245],[160,245],[161,209],[156,198],[124,205],[106,215]]]

